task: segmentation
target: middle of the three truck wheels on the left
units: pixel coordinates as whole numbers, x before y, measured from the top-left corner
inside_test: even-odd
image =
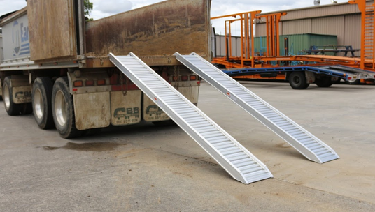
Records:
[[[52,116],[52,88],[49,77],[38,77],[33,84],[32,105],[34,118],[39,128],[50,129],[55,127]]]

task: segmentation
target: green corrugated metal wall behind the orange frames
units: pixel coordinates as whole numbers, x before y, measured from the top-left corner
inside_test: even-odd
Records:
[[[337,36],[318,35],[313,33],[284,35],[280,36],[280,55],[282,56],[285,55],[284,38],[289,39],[289,53],[294,55],[297,55],[300,50],[309,50],[311,45],[337,45]],[[255,52],[257,52],[257,54],[259,54],[260,51],[265,52],[267,50],[266,42],[266,37],[254,38]],[[333,53],[326,54],[333,55]]]

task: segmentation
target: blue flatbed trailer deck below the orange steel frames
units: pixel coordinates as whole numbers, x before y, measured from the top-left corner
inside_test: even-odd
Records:
[[[222,70],[231,77],[239,77],[246,75],[255,75],[262,73],[279,73],[279,72],[293,72],[293,71],[309,71],[317,74],[330,75],[332,77],[339,77],[348,82],[356,79],[375,79],[375,73],[369,70],[362,70],[360,68],[353,68],[348,66],[334,65],[334,66],[283,66],[272,68],[236,68],[235,70]]]

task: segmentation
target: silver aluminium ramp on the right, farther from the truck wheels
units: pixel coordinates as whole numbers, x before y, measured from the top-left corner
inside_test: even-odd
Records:
[[[330,146],[327,146],[302,126],[299,126],[198,54],[193,52],[190,55],[181,55],[176,52],[174,55],[176,55],[178,61],[245,109],[246,112],[274,131],[309,160],[323,163],[339,158]]]

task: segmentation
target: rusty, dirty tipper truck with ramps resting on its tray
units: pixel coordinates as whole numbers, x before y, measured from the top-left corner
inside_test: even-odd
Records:
[[[0,20],[6,112],[34,112],[39,128],[56,128],[64,138],[142,119],[170,122],[108,53],[140,56],[197,105],[199,79],[173,54],[194,51],[211,59],[210,4],[170,0],[86,22],[83,0],[27,1]]]

